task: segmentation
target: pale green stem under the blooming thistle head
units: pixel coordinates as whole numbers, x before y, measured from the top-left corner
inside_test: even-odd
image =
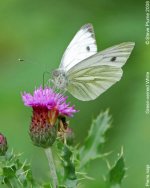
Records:
[[[50,178],[52,180],[52,187],[57,188],[58,187],[58,178],[57,178],[57,174],[56,174],[56,167],[55,167],[51,148],[45,149],[45,154],[48,159],[48,164],[49,164],[49,168],[50,168]]]

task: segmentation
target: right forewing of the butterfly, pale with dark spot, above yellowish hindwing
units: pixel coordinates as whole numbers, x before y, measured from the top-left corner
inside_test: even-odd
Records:
[[[124,42],[119,45],[107,48],[87,59],[84,59],[79,64],[76,64],[68,71],[68,74],[89,66],[110,65],[115,67],[122,67],[129,58],[133,48],[134,42]]]

